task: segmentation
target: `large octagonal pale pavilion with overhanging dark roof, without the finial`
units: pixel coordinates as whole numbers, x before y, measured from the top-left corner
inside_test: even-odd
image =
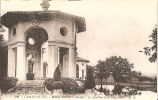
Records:
[[[59,67],[62,76],[76,78],[76,35],[86,30],[83,17],[60,11],[15,11],[4,14],[1,21],[9,29],[8,76],[52,78]]]

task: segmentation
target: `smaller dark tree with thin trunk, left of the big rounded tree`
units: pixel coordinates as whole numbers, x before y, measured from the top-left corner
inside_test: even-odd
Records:
[[[95,70],[96,77],[99,78],[101,81],[100,89],[102,91],[103,89],[102,81],[103,79],[107,80],[107,78],[110,77],[110,69],[109,69],[109,66],[107,66],[106,64],[106,61],[101,61],[101,60],[98,61],[98,64],[96,65],[95,69],[96,69]]]

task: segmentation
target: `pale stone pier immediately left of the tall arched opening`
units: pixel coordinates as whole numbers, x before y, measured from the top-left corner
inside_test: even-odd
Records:
[[[26,80],[25,62],[26,62],[25,44],[18,43],[16,77],[19,80]]]

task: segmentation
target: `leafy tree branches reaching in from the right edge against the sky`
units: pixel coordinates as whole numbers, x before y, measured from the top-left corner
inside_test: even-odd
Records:
[[[149,41],[152,42],[153,45],[151,47],[144,47],[144,51],[139,52],[144,52],[145,55],[149,56],[150,62],[155,62],[157,60],[157,28],[155,28],[149,36]]]

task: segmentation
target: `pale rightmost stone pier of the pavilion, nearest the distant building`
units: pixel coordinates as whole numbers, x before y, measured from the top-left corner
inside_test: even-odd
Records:
[[[69,66],[68,66],[68,73],[69,78],[75,79],[76,78],[76,54],[75,54],[75,47],[71,46],[69,48]]]

